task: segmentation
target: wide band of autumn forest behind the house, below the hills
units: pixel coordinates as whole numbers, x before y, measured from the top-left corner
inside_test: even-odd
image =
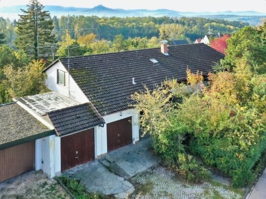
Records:
[[[170,39],[187,39],[193,42],[195,39],[203,37],[210,26],[213,34],[221,35],[231,34],[232,32],[248,25],[245,22],[210,20],[205,18],[187,18],[172,19],[169,17],[111,17],[99,18],[96,16],[62,16],[60,18],[53,17],[53,34],[58,42],[62,41],[62,37],[66,34],[66,29],[71,29],[71,38],[78,39],[79,36],[94,33],[97,40],[113,41],[116,35],[121,34],[124,39],[140,37],[150,39],[159,37],[160,29],[167,24],[175,24],[177,33]],[[69,22],[69,23],[68,23]],[[16,21],[11,22],[8,19],[0,18],[0,32],[6,35],[6,42],[14,45],[17,37]],[[69,26],[68,26],[69,24]],[[165,27],[167,28],[167,27]]]

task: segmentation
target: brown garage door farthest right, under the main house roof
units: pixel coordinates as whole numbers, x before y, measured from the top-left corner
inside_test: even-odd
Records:
[[[112,151],[132,143],[131,117],[107,124],[107,150]]]

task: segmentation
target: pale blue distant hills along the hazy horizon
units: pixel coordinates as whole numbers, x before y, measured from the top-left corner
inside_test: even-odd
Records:
[[[0,17],[9,18],[11,20],[18,19],[19,14],[21,14],[21,9],[26,9],[25,5],[7,6],[0,7]],[[250,22],[252,24],[257,24],[260,22],[263,16],[266,17],[265,13],[259,13],[255,11],[243,11],[243,12],[178,12],[168,9],[158,9],[158,10],[124,10],[124,9],[112,9],[104,7],[103,5],[98,5],[93,8],[77,8],[77,7],[63,7],[56,5],[46,5],[45,9],[51,13],[51,16],[60,17],[62,15],[84,15],[91,16],[95,15],[98,17],[142,17],[142,16],[152,16],[152,17],[199,17],[204,16],[205,18],[212,19],[226,19],[226,20],[238,20],[243,22]],[[234,17],[226,17],[226,16]]]

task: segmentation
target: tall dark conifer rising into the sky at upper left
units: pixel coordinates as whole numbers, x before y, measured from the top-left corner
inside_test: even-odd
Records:
[[[27,9],[22,9],[24,14],[19,15],[20,19],[17,22],[18,38],[15,44],[33,59],[38,58],[38,42],[39,46],[55,42],[55,36],[51,34],[53,21],[50,13],[43,11],[43,9],[43,4],[38,0],[30,0],[29,4],[27,4]]]

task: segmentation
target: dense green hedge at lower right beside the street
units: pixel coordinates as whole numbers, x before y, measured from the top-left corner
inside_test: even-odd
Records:
[[[255,171],[266,150],[266,133],[260,143],[248,151],[233,146],[225,138],[199,139],[190,141],[190,150],[194,155],[203,158],[204,162],[216,167],[219,171],[232,177],[233,187],[242,187],[252,183],[257,176]]]

